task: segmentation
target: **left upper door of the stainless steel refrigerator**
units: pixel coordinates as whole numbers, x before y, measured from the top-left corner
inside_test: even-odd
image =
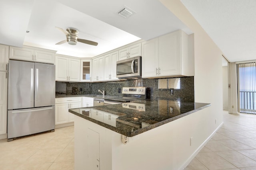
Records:
[[[34,63],[9,61],[8,109],[34,107]]]

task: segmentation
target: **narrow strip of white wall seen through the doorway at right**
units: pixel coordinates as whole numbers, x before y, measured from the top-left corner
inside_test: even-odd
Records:
[[[223,109],[228,110],[228,66],[222,66]]]

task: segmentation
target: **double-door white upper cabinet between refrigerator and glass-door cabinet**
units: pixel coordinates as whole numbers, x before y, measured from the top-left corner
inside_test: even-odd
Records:
[[[56,55],[56,81],[80,81],[80,59]]]

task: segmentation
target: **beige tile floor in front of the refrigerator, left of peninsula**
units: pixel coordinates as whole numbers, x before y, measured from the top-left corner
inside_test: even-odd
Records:
[[[0,140],[0,170],[74,170],[74,126]]]

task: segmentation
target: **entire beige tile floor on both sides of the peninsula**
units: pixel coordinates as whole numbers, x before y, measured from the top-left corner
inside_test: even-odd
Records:
[[[256,170],[256,115],[223,112],[224,124],[185,170]],[[0,170],[74,170],[74,126],[0,140]]]

